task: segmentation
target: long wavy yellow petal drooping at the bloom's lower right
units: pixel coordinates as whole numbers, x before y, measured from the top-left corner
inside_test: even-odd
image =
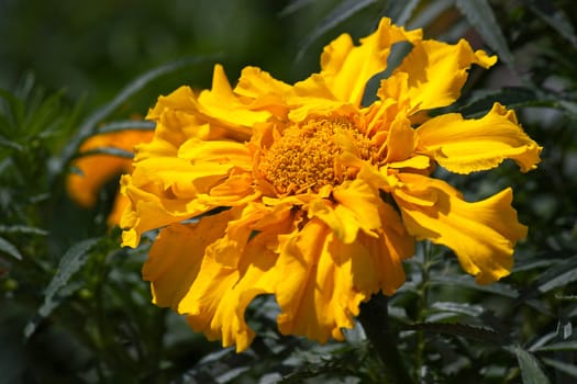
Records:
[[[403,188],[393,196],[410,234],[453,249],[463,269],[478,283],[510,273],[513,247],[526,236],[526,227],[518,222],[511,206],[510,189],[468,203],[444,181],[414,173],[399,178]]]

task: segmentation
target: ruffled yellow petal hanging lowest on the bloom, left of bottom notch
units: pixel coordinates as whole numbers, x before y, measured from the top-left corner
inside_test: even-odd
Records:
[[[247,211],[243,211],[238,217],[238,212],[230,214],[245,223],[255,222],[255,225],[260,217]],[[290,207],[286,212],[289,213]],[[236,345],[237,352],[248,348],[254,338],[254,331],[245,321],[246,307],[257,295],[271,294],[277,282],[284,279],[275,268],[275,250],[278,247],[278,234],[293,228],[293,217],[277,213],[265,217],[267,229],[254,235],[242,247],[237,247],[240,242],[236,242],[229,248],[230,251],[237,251],[235,256],[231,255],[237,259],[236,267],[217,260],[217,250],[222,244],[214,247],[214,242],[207,247],[197,278],[178,305],[178,312],[187,314],[187,320],[193,329],[204,332],[210,340],[221,339],[223,347]],[[231,241],[244,238],[244,233],[240,235],[235,238],[228,230]]]

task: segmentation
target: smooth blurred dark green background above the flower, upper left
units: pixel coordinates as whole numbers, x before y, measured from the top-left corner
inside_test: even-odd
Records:
[[[231,82],[248,65],[291,82],[318,69],[320,49],[330,37],[344,31],[368,34],[382,9],[376,1],[365,7],[296,60],[337,1],[301,3],[306,11],[291,13],[286,0],[1,0],[0,87],[10,89],[32,72],[48,89],[100,105],[146,70],[202,56],[215,58],[155,87],[164,93],[184,83],[208,87],[214,63],[224,65]],[[158,91],[149,94],[148,105]]]

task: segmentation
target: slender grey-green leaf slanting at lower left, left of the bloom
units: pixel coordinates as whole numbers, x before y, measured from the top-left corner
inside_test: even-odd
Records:
[[[56,274],[49,282],[44,293],[44,302],[38,308],[37,316],[31,319],[24,328],[24,338],[34,334],[40,321],[47,317],[62,302],[62,297],[69,295],[79,289],[78,284],[69,284],[70,278],[78,272],[87,262],[90,250],[99,241],[99,238],[90,238],[71,246],[64,253]]]

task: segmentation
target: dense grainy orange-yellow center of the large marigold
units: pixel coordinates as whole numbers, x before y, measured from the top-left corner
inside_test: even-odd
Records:
[[[354,122],[344,117],[310,118],[287,127],[265,151],[258,169],[280,194],[318,192],[323,185],[337,185],[356,177],[358,169],[340,161],[344,147],[353,148],[364,159],[375,153],[370,139]]]

